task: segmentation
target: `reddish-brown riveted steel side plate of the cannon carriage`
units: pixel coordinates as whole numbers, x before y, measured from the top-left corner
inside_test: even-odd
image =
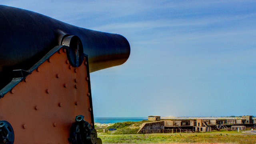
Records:
[[[94,126],[88,62],[72,67],[63,48],[0,99],[0,120],[10,122],[16,144],[68,144],[78,115]]]

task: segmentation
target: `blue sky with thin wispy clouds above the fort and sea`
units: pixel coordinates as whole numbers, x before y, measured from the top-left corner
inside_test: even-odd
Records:
[[[91,76],[95,117],[256,115],[256,1],[0,0],[130,42]]]

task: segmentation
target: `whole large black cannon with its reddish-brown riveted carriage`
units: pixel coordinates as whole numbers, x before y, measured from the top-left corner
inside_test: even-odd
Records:
[[[100,144],[90,72],[130,56],[128,40],[0,5],[0,144]]]

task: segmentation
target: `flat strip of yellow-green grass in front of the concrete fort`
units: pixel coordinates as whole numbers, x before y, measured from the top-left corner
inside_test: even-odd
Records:
[[[231,143],[256,144],[256,135],[250,134],[98,134],[104,144],[111,143]]]

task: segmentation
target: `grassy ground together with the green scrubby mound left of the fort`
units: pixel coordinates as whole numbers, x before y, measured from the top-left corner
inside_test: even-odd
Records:
[[[143,121],[146,122],[146,121]],[[176,133],[176,134],[137,134],[143,122],[123,122],[105,127],[116,128],[114,132],[103,133],[104,128],[98,127],[98,137],[104,144],[117,143],[229,143],[256,144],[256,135],[237,131],[212,131],[206,133]]]

